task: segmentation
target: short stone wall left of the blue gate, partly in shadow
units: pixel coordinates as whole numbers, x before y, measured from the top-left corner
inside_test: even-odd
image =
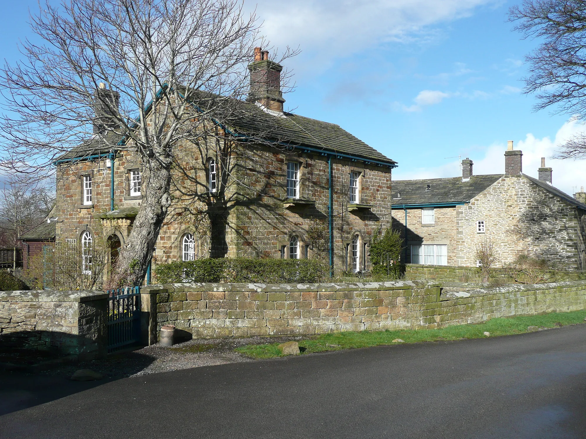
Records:
[[[102,291],[0,291],[0,347],[104,356],[107,297]]]

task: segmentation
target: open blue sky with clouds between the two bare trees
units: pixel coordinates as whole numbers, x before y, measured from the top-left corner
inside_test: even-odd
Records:
[[[554,160],[556,144],[582,125],[568,115],[533,112],[520,92],[523,56],[536,44],[506,22],[515,2],[493,0],[258,0],[264,33],[302,53],[285,62],[297,88],[285,107],[341,125],[399,167],[394,179],[456,176],[458,156],[475,173],[502,173],[507,140],[537,176],[541,156],[554,186],[586,186],[584,163]],[[29,35],[28,8],[4,5],[2,57],[18,58]],[[456,158],[454,158],[456,157]]]

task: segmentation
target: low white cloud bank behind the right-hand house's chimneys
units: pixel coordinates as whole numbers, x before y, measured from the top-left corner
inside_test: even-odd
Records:
[[[541,166],[541,157],[546,157],[546,166],[553,168],[553,186],[567,194],[573,194],[575,188],[586,187],[586,160],[552,159],[558,146],[577,133],[585,132],[586,124],[570,119],[557,131],[556,137],[538,139],[528,133],[524,139],[515,142],[515,149],[523,151],[523,173],[537,178],[537,168]],[[505,172],[506,142],[493,143],[485,149],[483,157],[474,157],[466,153],[474,162],[473,172],[480,174],[502,174]],[[462,159],[465,157],[462,156]],[[460,175],[458,159],[442,164],[441,166],[425,167],[413,170],[403,170],[401,167],[393,172],[394,180],[407,179],[438,179],[456,177]]]

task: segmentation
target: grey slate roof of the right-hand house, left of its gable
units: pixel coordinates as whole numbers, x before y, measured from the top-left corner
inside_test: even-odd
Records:
[[[463,203],[486,190],[500,177],[502,174],[476,175],[470,177],[469,181],[462,181],[462,177],[393,180],[391,203],[393,205]],[[428,184],[430,190],[427,190]],[[401,198],[397,198],[397,193],[401,194]]]

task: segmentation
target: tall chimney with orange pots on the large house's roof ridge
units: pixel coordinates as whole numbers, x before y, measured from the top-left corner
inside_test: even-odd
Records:
[[[268,59],[268,50],[254,48],[254,61],[248,64],[250,91],[248,102],[258,102],[273,111],[283,111],[281,92],[281,70],[283,67]]]

